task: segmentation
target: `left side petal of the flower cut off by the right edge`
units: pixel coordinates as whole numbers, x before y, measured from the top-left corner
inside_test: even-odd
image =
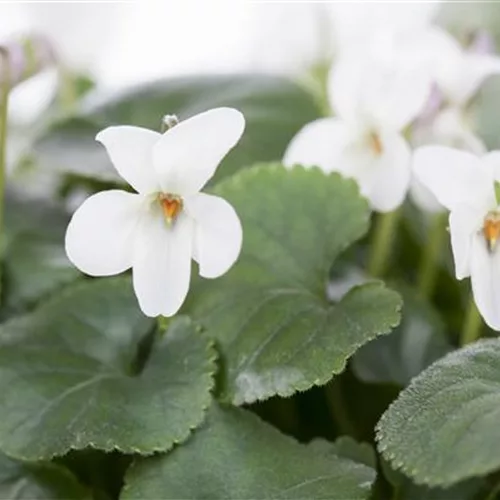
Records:
[[[450,236],[455,275],[461,280],[470,275],[472,240],[484,218],[484,212],[466,205],[459,205],[450,212]]]

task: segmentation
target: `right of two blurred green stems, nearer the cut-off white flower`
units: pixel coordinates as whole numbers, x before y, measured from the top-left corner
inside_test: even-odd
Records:
[[[427,245],[418,270],[418,290],[424,297],[430,297],[434,291],[439,271],[439,255],[446,241],[446,220],[446,213],[432,216]]]

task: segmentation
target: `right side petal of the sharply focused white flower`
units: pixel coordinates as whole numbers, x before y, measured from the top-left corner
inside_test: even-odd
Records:
[[[200,275],[217,278],[236,262],[243,232],[234,208],[224,199],[199,193],[184,199],[195,220],[195,255]]]

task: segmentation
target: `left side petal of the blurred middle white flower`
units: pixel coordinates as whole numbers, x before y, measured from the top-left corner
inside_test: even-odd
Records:
[[[331,172],[346,147],[350,132],[336,118],[321,118],[305,125],[291,140],[283,158],[286,166],[318,166]]]

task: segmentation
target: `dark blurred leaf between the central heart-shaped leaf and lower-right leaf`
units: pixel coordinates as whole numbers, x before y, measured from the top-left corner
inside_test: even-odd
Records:
[[[357,377],[368,383],[407,385],[451,350],[443,321],[416,291],[397,286],[404,301],[401,324],[363,346],[353,357]]]

